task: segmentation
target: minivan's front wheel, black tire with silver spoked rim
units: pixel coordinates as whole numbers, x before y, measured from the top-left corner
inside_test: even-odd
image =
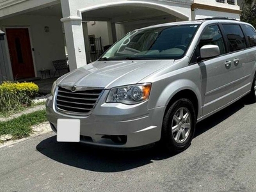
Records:
[[[181,112],[183,118],[180,118]],[[161,135],[164,148],[174,154],[186,150],[193,140],[195,125],[196,115],[191,101],[175,101],[164,115]]]

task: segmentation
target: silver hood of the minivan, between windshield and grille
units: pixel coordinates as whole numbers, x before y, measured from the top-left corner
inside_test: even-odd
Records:
[[[62,86],[112,88],[136,84],[174,60],[95,61],[57,80]]]

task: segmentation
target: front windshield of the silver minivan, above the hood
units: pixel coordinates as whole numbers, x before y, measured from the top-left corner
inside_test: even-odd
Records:
[[[197,28],[197,24],[189,24],[132,31],[116,42],[99,61],[182,58]]]

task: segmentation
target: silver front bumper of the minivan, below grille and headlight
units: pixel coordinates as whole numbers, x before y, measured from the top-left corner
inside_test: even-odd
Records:
[[[100,100],[105,100],[107,92]],[[164,107],[147,109],[147,102],[127,106],[100,102],[89,116],[72,116],[56,111],[54,98],[46,102],[47,120],[57,132],[59,118],[75,118],[81,122],[81,142],[104,147],[132,148],[154,143],[161,139]],[[72,129],[72,127],[70,127]],[[125,138],[115,142],[116,136]],[[113,140],[114,138],[114,140]]]

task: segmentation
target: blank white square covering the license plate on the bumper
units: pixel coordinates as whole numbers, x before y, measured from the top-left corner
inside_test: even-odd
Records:
[[[79,119],[58,119],[57,141],[58,142],[79,142],[80,141],[80,120]]]

